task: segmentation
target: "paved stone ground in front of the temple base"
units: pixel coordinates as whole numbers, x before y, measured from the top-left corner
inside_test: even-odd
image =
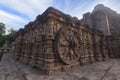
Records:
[[[0,62],[0,80],[120,80],[120,59],[95,62],[46,76],[38,69],[14,61],[12,54],[6,53]]]

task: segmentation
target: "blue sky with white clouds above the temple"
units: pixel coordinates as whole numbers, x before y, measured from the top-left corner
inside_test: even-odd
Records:
[[[28,22],[35,20],[49,6],[53,6],[66,14],[82,18],[82,14],[92,11],[97,4],[120,13],[120,0],[0,0],[0,22],[7,29],[18,30]]]

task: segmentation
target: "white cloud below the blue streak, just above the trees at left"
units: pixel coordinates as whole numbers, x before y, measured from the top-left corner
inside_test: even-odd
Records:
[[[24,24],[26,24],[28,21],[19,16],[9,14],[5,11],[0,10],[0,22],[6,24],[6,29],[10,28],[18,29],[20,27],[23,27]]]

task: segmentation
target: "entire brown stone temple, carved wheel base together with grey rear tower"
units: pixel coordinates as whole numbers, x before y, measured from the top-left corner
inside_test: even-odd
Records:
[[[120,14],[104,5],[81,20],[49,7],[19,29],[14,58],[49,75],[120,57],[119,21]]]

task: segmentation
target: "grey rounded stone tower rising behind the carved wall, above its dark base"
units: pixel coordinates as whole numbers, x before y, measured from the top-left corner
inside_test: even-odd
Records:
[[[91,13],[84,14],[82,20],[105,35],[120,35],[120,14],[103,4],[96,5]]]

